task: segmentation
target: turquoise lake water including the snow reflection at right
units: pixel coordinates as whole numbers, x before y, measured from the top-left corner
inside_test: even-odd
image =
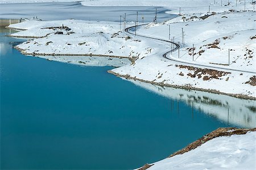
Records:
[[[10,43],[23,40],[6,34],[0,169],[133,169],[218,127],[255,127],[255,101],[126,81],[107,73],[113,67],[24,56]]]

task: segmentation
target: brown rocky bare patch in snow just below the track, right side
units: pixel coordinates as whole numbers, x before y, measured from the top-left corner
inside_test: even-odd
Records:
[[[212,78],[220,79],[222,76],[226,76],[227,74],[230,74],[230,72],[222,72],[217,71],[214,69],[207,69],[207,68],[196,68],[188,65],[175,65],[175,67],[179,68],[185,68],[189,71],[193,71],[193,73],[188,73],[187,76],[195,78],[196,76],[198,78],[203,77],[203,80],[211,80]]]

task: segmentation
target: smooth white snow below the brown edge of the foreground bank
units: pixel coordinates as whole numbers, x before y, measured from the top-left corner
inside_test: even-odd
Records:
[[[245,135],[221,136],[195,150],[153,163],[148,170],[253,170],[256,168],[255,140],[255,131]]]

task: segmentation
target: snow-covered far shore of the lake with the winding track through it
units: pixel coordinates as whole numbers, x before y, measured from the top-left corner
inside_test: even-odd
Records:
[[[164,59],[162,55],[170,50],[170,43],[126,35],[119,32],[119,23],[116,22],[27,20],[23,23],[12,24],[10,27],[28,29],[15,33],[13,36],[47,35],[44,38],[30,40],[18,45],[24,53],[92,53],[96,55],[138,57],[135,64],[113,69],[113,72],[151,81],[152,83],[190,86],[192,88],[212,89],[228,94],[243,94],[255,97],[255,88],[248,83],[255,76],[255,22],[253,21],[253,15],[253,12],[228,13],[225,15],[220,13],[206,19],[187,20],[185,22],[182,19],[183,16],[179,16],[168,20],[166,23],[150,23],[146,27],[138,27],[138,34],[164,38],[166,34],[168,36],[167,23],[171,23],[172,27],[176,28],[175,30],[171,27],[172,35],[175,34],[176,41],[179,41],[181,38],[177,34],[184,26],[184,30],[190,32],[191,36],[185,36],[185,47],[180,49],[179,61],[192,62],[191,64]],[[196,16],[196,14],[193,16]],[[241,24],[237,22],[238,19]],[[216,23],[220,26],[217,27]],[[174,24],[176,26],[173,26]],[[226,26],[229,24],[232,24],[233,27],[230,26],[228,29]],[[134,23],[127,23],[126,27],[131,25],[134,25]],[[55,35],[57,29],[47,28],[61,26],[67,26],[71,30],[64,30],[63,35]],[[122,28],[121,30],[123,31]],[[71,34],[72,32],[75,33]],[[195,61],[192,61],[192,55],[186,54],[189,48],[192,47],[192,43],[195,43]],[[212,48],[213,45],[216,45],[217,48]],[[232,49],[230,51],[230,65],[225,65],[228,63],[227,53],[229,48]],[[168,57],[177,58],[177,51]],[[206,66],[184,67],[184,65],[192,66],[193,64],[206,64]],[[205,71],[199,69],[208,68],[209,65],[226,69],[210,68],[221,71],[214,74],[212,74],[212,71],[206,71],[207,73],[205,73]],[[238,69],[238,71],[230,71],[229,68]]]

